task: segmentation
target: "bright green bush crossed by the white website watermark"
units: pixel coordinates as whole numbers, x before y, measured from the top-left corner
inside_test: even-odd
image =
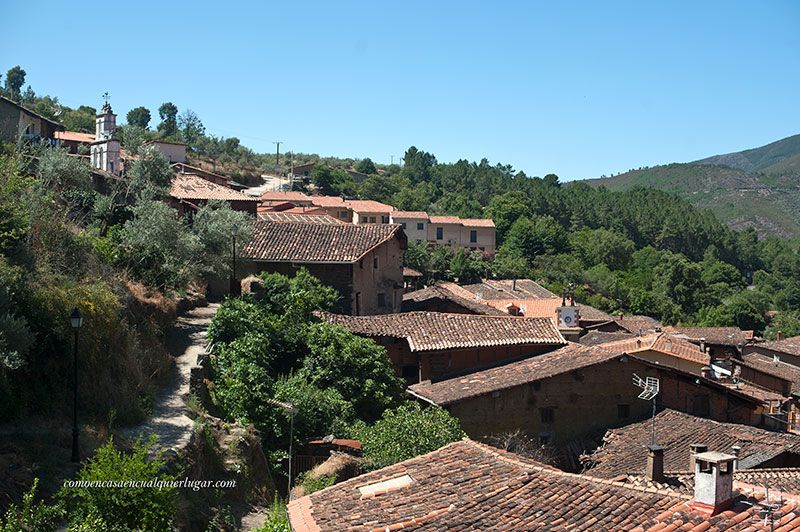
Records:
[[[149,458],[155,437],[134,444],[131,453],[114,448],[113,440],[97,449],[81,469],[79,481],[172,481],[163,472],[161,453]],[[70,524],[87,530],[172,530],[176,491],[161,488],[62,488],[62,497],[71,507]]]

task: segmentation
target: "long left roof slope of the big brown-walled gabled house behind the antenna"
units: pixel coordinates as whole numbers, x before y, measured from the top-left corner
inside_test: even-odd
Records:
[[[523,318],[511,318],[522,320]],[[521,386],[540,379],[601,364],[622,351],[569,343],[561,349],[439,382],[421,382],[409,389],[438,405],[457,403],[483,394]]]

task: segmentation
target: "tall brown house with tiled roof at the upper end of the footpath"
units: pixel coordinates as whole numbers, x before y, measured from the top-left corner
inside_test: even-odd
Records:
[[[337,290],[337,312],[385,314],[400,310],[406,246],[399,225],[354,225],[330,216],[294,215],[285,221],[271,216],[256,222],[240,252],[239,273],[292,276],[305,268]]]

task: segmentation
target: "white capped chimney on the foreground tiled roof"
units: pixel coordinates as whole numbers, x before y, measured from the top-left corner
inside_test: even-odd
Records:
[[[694,501],[695,510],[716,515],[733,503],[733,464],[736,457],[718,452],[695,455]]]

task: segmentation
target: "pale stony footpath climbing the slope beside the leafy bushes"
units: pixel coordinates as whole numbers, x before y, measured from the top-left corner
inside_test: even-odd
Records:
[[[189,377],[197,356],[206,348],[206,336],[218,304],[198,307],[178,317],[167,339],[167,347],[175,356],[175,368],[169,384],[156,395],[152,415],[140,425],[126,427],[117,433],[126,439],[158,436],[158,445],[165,451],[177,451],[189,443],[192,419],[187,415]]]

